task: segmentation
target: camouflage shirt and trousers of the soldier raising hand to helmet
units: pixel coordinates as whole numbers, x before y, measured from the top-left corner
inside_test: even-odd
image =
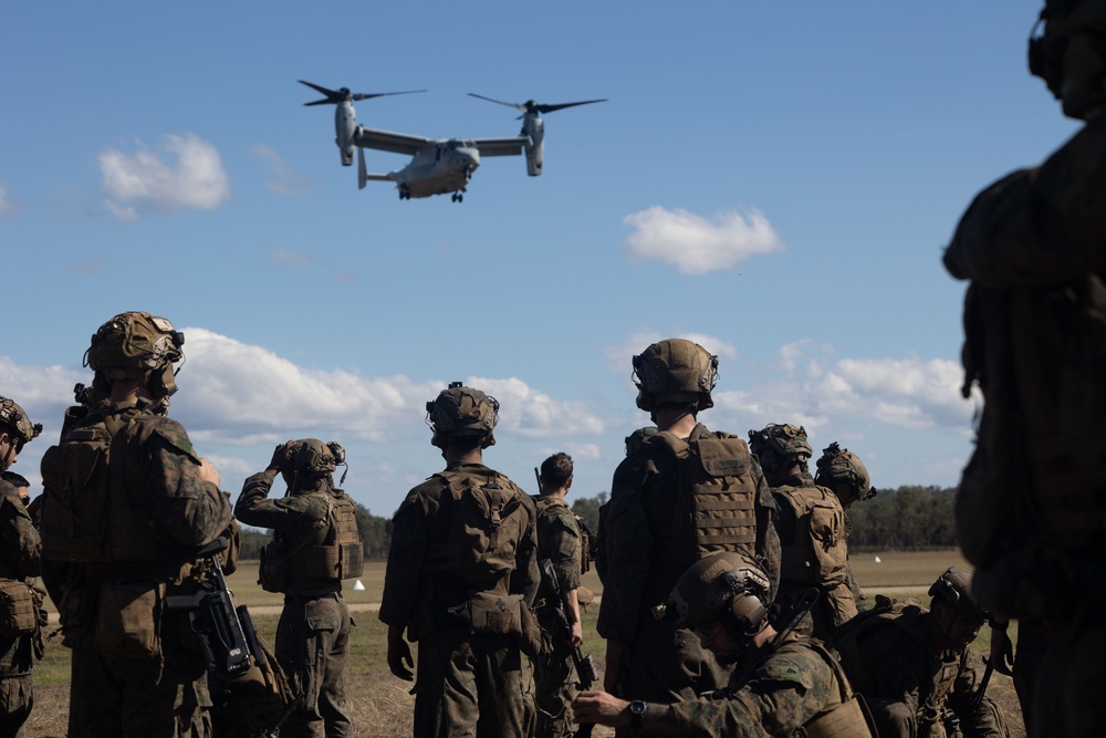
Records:
[[[273,477],[264,471],[246,480],[234,517],[270,528],[288,551],[326,540],[331,509],[342,490],[319,490],[269,500]],[[276,661],[300,706],[280,732],[286,737],[342,738],[353,735],[345,697],[345,664],[353,617],[342,599],[342,581],[319,579],[286,590],[276,625]]]

